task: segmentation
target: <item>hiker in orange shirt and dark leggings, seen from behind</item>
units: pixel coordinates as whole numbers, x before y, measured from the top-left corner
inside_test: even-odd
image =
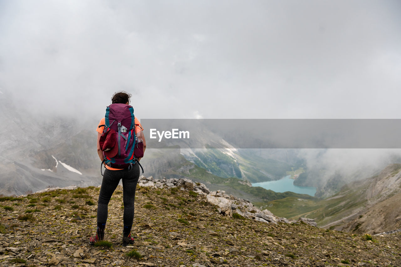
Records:
[[[127,110],[129,109],[133,114],[133,109],[131,106],[129,106],[130,97],[131,97],[131,95],[124,91],[117,92],[111,98],[112,104],[109,107],[113,106],[113,104],[115,104],[115,103],[118,103],[119,105],[114,105],[114,106],[123,107],[123,108],[126,108]],[[121,104],[125,104],[125,105],[127,105],[127,107],[124,105],[121,105]],[[99,192],[99,200],[98,200],[98,204],[97,204],[96,235],[89,238],[89,244],[93,245],[95,242],[103,240],[104,230],[105,230],[105,225],[106,225],[106,220],[107,220],[107,206],[109,204],[111,195],[113,194],[115,188],[117,188],[117,185],[119,184],[119,181],[122,180],[123,201],[124,201],[124,216],[123,216],[124,229],[123,229],[122,245],[127,246],[129,244],[134,243],[134,238],[131,237],[131,228],[132,228],[132,223],[134,221],[135,190],[136,190],[136,185],[138,183],[138,179],[139,179],[139,175],[140,175],[139,161],[141,160],[141,158],[138,158],[138,161],[131,163],[130,166],[124,166],[126,168],[112,168],[112,164],[110,164],[110,161],[108,161],[108,160],[109,160],[109,157],[116,156],[117,151],[118,151],[118,153],[120,153],[120,144],[117,146],[117,141],[113,141],[116,143],[115,147],[113,147],[111,149],[107,149],[104,152],[102,151],[102,149],[104,149],[104,147],[101,148],[101,145],[100,145],[102,143],[101,138],[102,138],[102,134],[103,134],[103,129],[106,126],[105,122],[109,123],[109,116],[110,117],[112,116],[111,112],[109,115],[109,107],[106,109],[106,118],[103,118],[100,120],[99,125],[96,129],[96,131],[98,133],[97,134],[97,154],[99,155],[99,158],[102,161],[102,164],[105,166],[105,170],[104,170],[104,174],[103,174],[103,180],[101,183],[101,188],[100,188],[100,192]],[[130,113],[128,113],[128,115],[130,115]],[[142,135],[143,128],[136,117],[135,117],[134,121],[135,121],[135,127],[133,129],[135,129],[136,136],[142,137],[142,140],[143,140],[143,151],[141,154],[141,156],[143,156],[143,152],[146,149],[146,141]],[[115,123],[117,123],[117,122],[115,122]],[[107,125],[106,130],[109,130],[109,128],[111,128],[111,124],[112,123],[110,123],[110,125]],[[119,133],[120,128],[123,129],[121,131],[127,130],[126,127],[124,127],[124,126],[120,127],[120,125],[121,125],[121,123],[118,123],[117,131],[118,131],[119,136],[120,136],[120,133]],[[107,134],[109,134],[109,133],[107,133]],[[128,132],[127,132],[127,134],[128,134]],[[116,136],[116,134],[114,133],[114,138],[115,138],[115,136]],[[116,139],[114,139],[114,140],[116,140]],[[106,143],[106,142],[108,142],[107,139],[106,139],[106,141],[103,140],[103,143]],[[103,153],[104,153],[104,155],[103,155]],[[135,158],[134,158],[134,160],[135,160]],[[114,167],[116,167],[116,166],[114,166]],[[141,168],[142,168],[142,166],[141,166]],[[142,169],[142,172],[143,172],[143,169]]]

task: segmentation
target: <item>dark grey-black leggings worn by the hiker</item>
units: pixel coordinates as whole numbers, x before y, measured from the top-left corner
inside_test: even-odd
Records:
[[[111,195],[117,188],[119,181],[123,180],[123,201],[124,201],[124,226],[132,226],[134,221],[134,201],[136,184],[139,179],[139,164],[134,164],[132,170],[108,170],[105,169],[99,200],[97,202],[97,223],[106,223],[107,221],[107,205],[109,204]]]

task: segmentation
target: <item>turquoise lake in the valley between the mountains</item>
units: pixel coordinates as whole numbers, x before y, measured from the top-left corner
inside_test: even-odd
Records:
[[[309,186],[295,186],[294,180],[290,178],[290,175],[276,181],[254,183],[252,186],[260,186],[268,190],[273,190],[274,192],[294,192],[298,194],[308,194],[314,196],[316,193],[316,187]]]

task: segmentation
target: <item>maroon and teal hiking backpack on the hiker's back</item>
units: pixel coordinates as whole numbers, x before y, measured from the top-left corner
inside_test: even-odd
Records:
[[[134,108],[130,105],[115,103],[106,108],[105,125],[99,145],[107,166],[117,169],[132,169],[136,163],[144,169],[138,158],[144,156],[142,138],[136,136]],[[140,131],[142,133],[142,129]],[[103,165],[102,162],[102,165]],[[103,174],[102,174],[103,175]]]

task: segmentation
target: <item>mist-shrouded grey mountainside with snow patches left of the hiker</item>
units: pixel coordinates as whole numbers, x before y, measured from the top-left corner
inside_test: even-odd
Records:
[[[27,110],[7,91],[0,95],[0,120],[1,194],[98,184],[96,136],[85,122]]]

